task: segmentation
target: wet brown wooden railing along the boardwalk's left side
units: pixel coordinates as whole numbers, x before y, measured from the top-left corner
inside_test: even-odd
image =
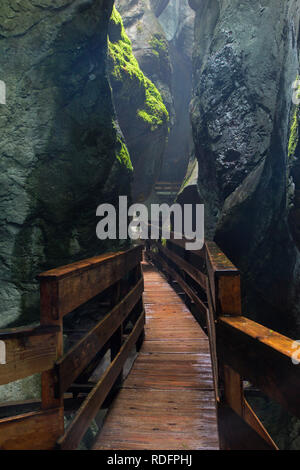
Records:
[[[120,383],[131,350],[143,341],[142,248],[111,253],[53,269],[39,276],[41,325],[0,330],[0,385],[41,373],[42,398],[35,403],[0,406],[0,449],[76,449],[92,419]],[[99,294],[110,309],[90,331],[64,353],[63,319]],[[123,325],[133,324],[125,336]],[[97,383],[88,382],[110,350],[111,363]],[[75,418],[64,429],[69,392],[88,390]],[[76,397],[75,393],[75,397]],[[79,407],[76,406],[80,405]],[[34,411],[30,411],[30,406]],[[18,410],[27,410],[11,416]]]

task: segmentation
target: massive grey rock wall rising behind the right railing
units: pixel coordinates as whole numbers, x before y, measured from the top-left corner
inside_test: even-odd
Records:
[[[299,254],[288,226],[288,140],[299,2],[190,5],[196,10],[191,116],[207,236],[241,269],[245,311],[296,334]]]

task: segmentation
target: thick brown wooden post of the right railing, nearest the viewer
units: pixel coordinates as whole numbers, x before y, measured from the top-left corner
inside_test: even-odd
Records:
[[[212,354],[219,396],[218,428],[223,450],[277,449],[244,396],[243,377],[224,361],[224,338],[218,328],[220,317],[242,316],[241,279],[235,266],[213,242],[206,243],[208,319],[213,318],[215,344]],[[220,336],[219,336],[220,333]],[[226,341],[226,340],[225,340]],[[229,345],[232,346],[232,345]],[[221,388],[221,390],[220,390]]]

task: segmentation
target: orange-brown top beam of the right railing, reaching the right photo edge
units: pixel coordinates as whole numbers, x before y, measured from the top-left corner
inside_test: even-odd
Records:
[[[294,341],[245,317],[220,317],[219,360],[300,418],[300,366]]]

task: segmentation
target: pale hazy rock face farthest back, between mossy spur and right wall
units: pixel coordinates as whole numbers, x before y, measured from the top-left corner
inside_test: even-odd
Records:
[[[194,12],[188,0],[117,0],[133,52],[156,85],[170,115],[170,136],[160,178],[182,181],[192,150]]]

